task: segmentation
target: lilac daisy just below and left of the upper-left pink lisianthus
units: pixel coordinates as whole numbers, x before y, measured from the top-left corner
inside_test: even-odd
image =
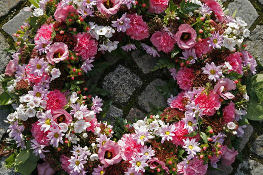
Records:
[[[48,62],[46,62],[44,58],[39,59],[39,57],[30,59],[29,64],[31,68],[30,73],[34,73],[36,76],[42,76],[48,67]]]

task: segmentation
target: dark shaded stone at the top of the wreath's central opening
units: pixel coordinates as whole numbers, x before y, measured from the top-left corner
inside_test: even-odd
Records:
[[[142,69],[144,74],[147,74],[153,69],[157,62],[157,58],[152,57],[149,54],[143,54],[139,56],[140,51],[134,50],[131,55],[136,64]]]

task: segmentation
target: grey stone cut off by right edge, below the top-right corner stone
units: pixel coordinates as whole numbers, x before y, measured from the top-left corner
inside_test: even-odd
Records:
[[[263,25],[256,25],[246,44],[246,49],[263,64]]]

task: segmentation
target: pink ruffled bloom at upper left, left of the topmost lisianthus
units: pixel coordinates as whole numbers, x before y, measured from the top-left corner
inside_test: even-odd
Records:
[[[54,13],[54,17],[57,21],[66,22],[66,19],[70,12],[74,12],[78,14],[73,5],[67,5],[67,6],[64,6],[63,8],[61,7],[61,5],[62,5],[62,2],[58,4],[57,9]]]

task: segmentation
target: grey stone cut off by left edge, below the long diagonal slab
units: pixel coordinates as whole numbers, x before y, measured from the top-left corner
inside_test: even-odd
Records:
[[[7,42],[7,39],[2,33],[0,33],[0,73],[2,73],[6,69],[6,66],[11,58],[8,52],[4,50],[8,47],[9,44]]]

